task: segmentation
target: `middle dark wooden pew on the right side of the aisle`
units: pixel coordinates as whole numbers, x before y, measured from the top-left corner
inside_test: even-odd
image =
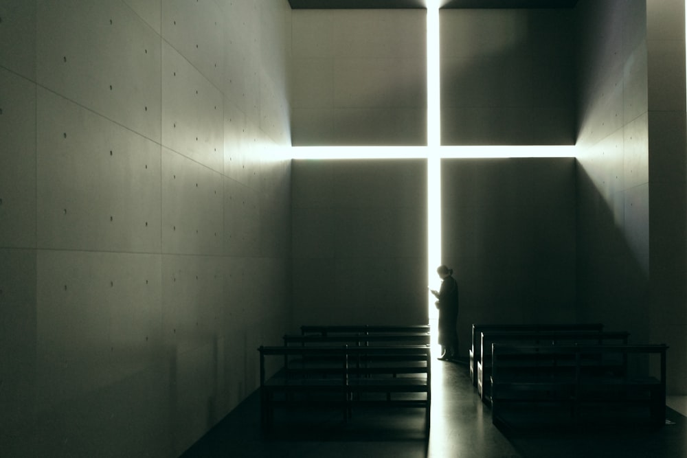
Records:
[[[627,344],[626,331],[483,331],[480,333],[480,361],[477,363],[477,393],[489,402],[491,377],[491,346],[493,343],[513,345],[560,345],[560,344]]]

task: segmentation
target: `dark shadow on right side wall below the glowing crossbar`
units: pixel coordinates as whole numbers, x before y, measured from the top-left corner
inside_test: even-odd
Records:
[[[580,163],[576,186],[578,319],[649,343],[649,197],[613,211]]]

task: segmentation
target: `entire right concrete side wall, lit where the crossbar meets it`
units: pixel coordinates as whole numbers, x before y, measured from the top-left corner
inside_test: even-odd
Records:
[[[576,13],[581,314],[671,345],[668,393],[684,394],[684,2],[582,1]]]

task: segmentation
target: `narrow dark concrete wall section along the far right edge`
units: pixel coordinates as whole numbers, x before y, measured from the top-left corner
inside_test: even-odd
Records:
[[[666,342],[668,393],[687,394],[685,2],[646,1],[651,339]]]

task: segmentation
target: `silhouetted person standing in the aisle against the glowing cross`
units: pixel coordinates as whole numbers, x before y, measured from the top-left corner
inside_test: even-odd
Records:
[[[455,322],[458,320],[458,283],[451,277],[453,269],[441,265],[436,268],[441,278],[439,290],[431,290],[436,297],[434,303],[439,309],[439,345],[441,345],[440,360],[458,358],[458,330]]]

